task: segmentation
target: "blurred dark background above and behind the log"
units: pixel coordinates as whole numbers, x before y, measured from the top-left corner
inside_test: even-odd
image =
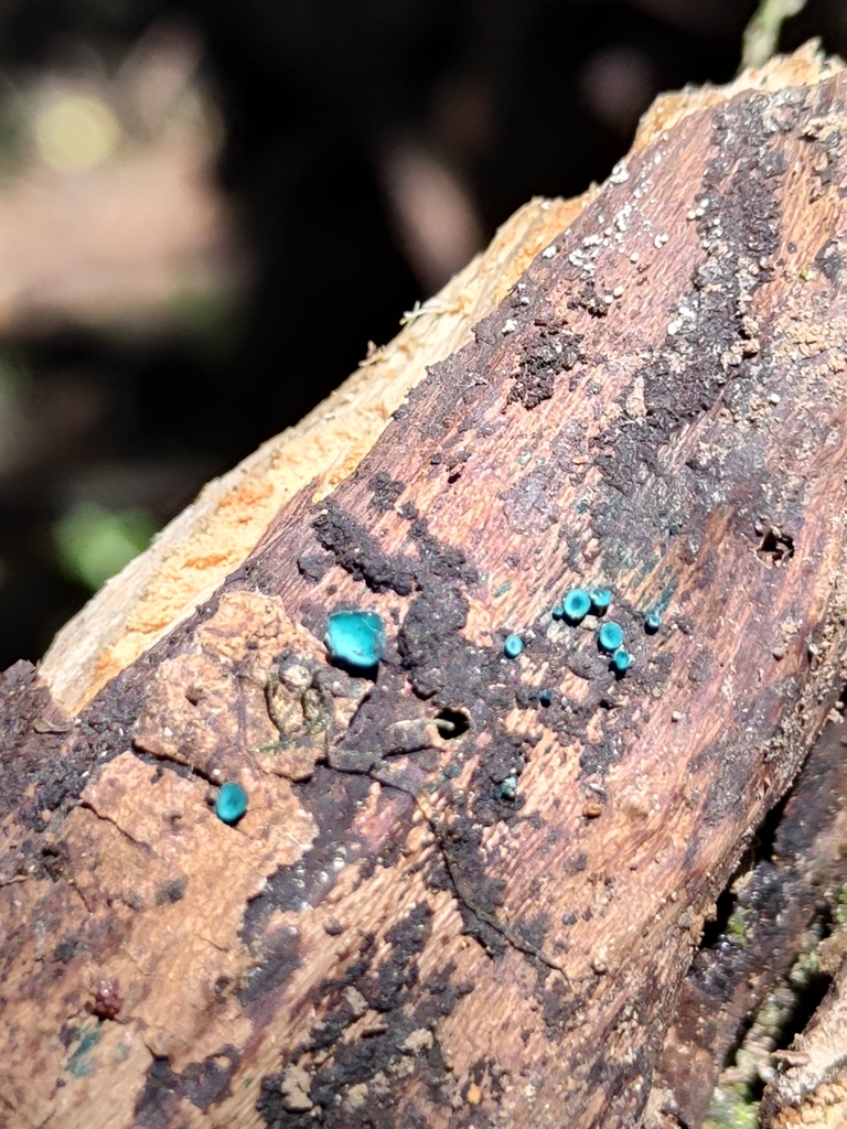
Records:
[[[295,423],[742,0],[10,0],[0,12],[0,667]],[[847,53],[810,0],[780,47]]]

